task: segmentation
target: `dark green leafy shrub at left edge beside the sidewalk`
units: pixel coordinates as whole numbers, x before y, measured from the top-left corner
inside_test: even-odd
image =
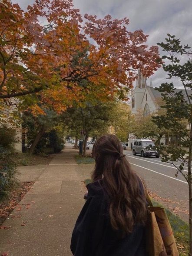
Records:
[[[0,200],[6,198],[17,184],[17,170],[12,157],[16,141],[15,130],[5,125],[0,127]]]

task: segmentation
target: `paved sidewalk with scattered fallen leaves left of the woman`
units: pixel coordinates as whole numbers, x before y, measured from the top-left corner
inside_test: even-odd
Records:
[[[84,204],[83,181],[93,164],[78,165],[77,150],[67,147],[30,178],[36,181],[0,229],[0,253],[9,256],[72,256],[70,239]],[[39,173],[36,173],[38,172]],[[24,173],[24,180],[28,180]],[[22,176],[21,179],[22,180]]]

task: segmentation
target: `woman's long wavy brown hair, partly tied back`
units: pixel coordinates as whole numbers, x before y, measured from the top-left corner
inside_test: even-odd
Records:
[[[146,200],[134,173],[123,155],[119,139],[104,135],[93,146],[96,166],[93,182],[103,179],[104,190],[109,196],[109,217],[113,229],[131,233],[136,223],[145,224]]]

